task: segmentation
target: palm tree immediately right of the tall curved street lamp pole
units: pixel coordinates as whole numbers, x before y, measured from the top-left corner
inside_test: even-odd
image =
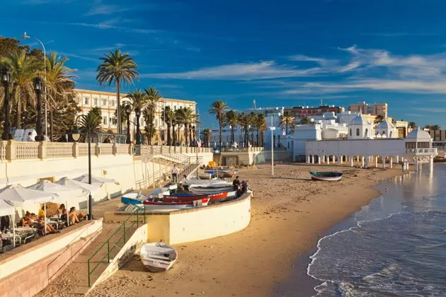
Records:
[[[57,53],[51,52],[47,59],[47,77],[45,79],[45,86],[47,88],[47,105],[50,110],[50,139],[53,137],[53,112],[58,107],[66,105],[69,100],[69,95],[73,95],[74,81],[72,78],[76,76],[71,75],[76,69],[69,69],[65,66],[68,61],[67,57],[57,56]]]

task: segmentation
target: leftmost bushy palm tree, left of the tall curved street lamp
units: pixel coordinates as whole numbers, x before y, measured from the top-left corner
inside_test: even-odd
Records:
[[[16,128],[21,129],[22,109],[26,110],[27,104],[35,105],[33,78],[43,65],[40,60],[27,55],[25,50],[18,50],[1,58],[0,64],[7,65],[13,73],[11,107],[16,107]]]

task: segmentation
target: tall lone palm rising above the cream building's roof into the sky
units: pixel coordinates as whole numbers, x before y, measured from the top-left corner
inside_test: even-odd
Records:
[[[103,62],[98,66],[98,69],[96,69],[98,72],[96,81],[98,81],[100,85],[108,84],[108,86],[110,86],[113,83],[116,86],[116,98],[118,98],[118,134],[122,134],[122,124],[120,120],[120,87],[121,83],[129,85],[133,84],[133,79],[137,80],[139,73],[135,69],[137,69],[138,66],[129,54],[122,54],[119,49],[116,49],[115,52],[109,52],[99,59]]]

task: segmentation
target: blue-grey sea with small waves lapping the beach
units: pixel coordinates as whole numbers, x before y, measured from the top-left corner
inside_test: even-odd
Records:
[[[446,296],[446,165],[423,170],[381,182],[379,197],[301,257],[302,286],[276,295]]]

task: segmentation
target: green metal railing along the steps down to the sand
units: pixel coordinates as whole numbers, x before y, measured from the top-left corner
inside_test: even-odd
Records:
[[[93,253],[93,255],[91,255],[91,257],[88,258],[87,261],[87,265],[88,265],[88,287],[91,286],[91,274],[93,274],[93,272],[96,270],[96,268],[98,268],[99,264],[104,263],[105,258],[107,258],[107,263],[110,263],[110,254],[111,252],[115,249],[118,248],[118,244],[120,243],[120,241],[122,240],[122,243],[125,245],[125,243],[127,242],[127,240],[129,239],[129,237],[127,236],[126,238],[126,233],[129,233],[130,231],[132,231],[132,228],[135,227],[139,228],[139,223],[141,222],[141,226],[143,224],[146,223],[146,210],[144,207],[144,212],[142,214],[139,214],[140,209],[137,209],[136,211],[134,211],[132,214],[130,214],[130,216],[127,217],[127,219],[125,219],[125,221],[123,221],[120,226],[115,230],[115,232],[112,233],[112,235],[110,235],[110,237],[105,240],[105,242],[98,248],[98,250],[96,250],[96,252]],[[132,216],[137,216],[136,221],[129,221],[130,218],[132,218]],[[139,218],[143,217],[144,219],[141,219],[141,221],[139,221]],[[144,222],[144,223],[143,223]],[[127,226],[126,226],[127,223]],[[131,223],[130,225],[128,225],[129,223]],[[122,234],[120,234],[120,231],[122,231]],[[113,237],[115,235],[120,235],[120,238],[118,238],[118,240],[116,241],[112,241]],[[111,245],[111,248],[110,248]],[[123,247],[123,245],[122,245]],[[105,250],[106,248],[106,252],[105,255],[103,255],[103,257],[101,258],[101,260],[99,260],[96,265],[93,267],[93,269],[91,269],[91,264],[94,264],[94,262],[92,263],[92,259],[93,257],[95,257],[98,252],[101,252],[101,250]]]

